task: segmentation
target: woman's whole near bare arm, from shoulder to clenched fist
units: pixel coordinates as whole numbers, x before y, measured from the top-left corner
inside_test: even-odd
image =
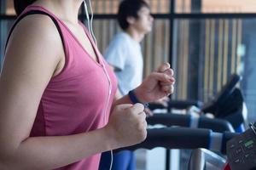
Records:
[[[16,26],[0,77],[0,169],[54,169],[145,139],[142,105],[115,107],[108,125],[89,133],[29,137],[61,55],[61,38],[48,17],[28,16]],[[129,119],[124,121],[124,114]],[[126,131],[131,133],[129,138]]]

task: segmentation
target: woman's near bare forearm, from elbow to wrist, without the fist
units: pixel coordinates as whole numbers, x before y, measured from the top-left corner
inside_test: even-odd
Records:
[[[0,169],[54,169],[113,150],[116,145],[105,128],[70,136],[32,137],[15,150],[2,150]]]

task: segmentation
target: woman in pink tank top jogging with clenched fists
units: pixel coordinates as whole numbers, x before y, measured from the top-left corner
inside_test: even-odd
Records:
[[[96,170],[146,138],[144,105],[172,94],[170,65],[115,99],[113,71],[79,22],[83,0],[15,0],[0,77],[0,169]]]

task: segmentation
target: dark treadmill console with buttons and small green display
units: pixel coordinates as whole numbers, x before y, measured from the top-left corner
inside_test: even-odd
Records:
[[[256,128],[250,125],[246,132],[230,139],[227,143],[227,156],[232,170],[256,169]]]

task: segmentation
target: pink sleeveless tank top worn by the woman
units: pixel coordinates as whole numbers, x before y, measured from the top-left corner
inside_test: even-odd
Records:
[[[117,81],[113,71],[103,59],[86,29],[87,37],[96,51],[99,62],[90,57],[68,27],[54,14],[40,6],[29,6],[23,12],[31,10],[44,11],[57,21],[60,27],[63,45],[66,53],[65,66],[61,73],[49,81],[44,91],[31,136],[62,136],[76,133],[86,133],[104,126],[104,111],[108,116],[113,104]],[[85,28],[85,27],[84,27]],[[112,94],[109,103],[108,77],[112,82]],[[67,148],[67,150],[69,150]],[[72,150],[72,148],[70,148]],[[61,167],[61,170],[96,170],[100,154],[84,158],[81,161]],[[56,159],[58,159],[56,157]]]

